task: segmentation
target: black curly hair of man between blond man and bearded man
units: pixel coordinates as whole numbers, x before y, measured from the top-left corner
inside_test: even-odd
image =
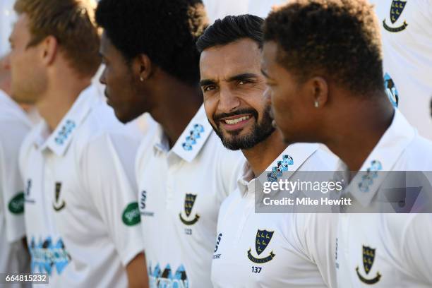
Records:
[[[208,25],[201,0],[101,0],[96,21],[128,63],[146,54],[170,75],[198,83],[195,44]]]

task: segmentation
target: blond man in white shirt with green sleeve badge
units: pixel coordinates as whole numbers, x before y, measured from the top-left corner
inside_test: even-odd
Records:
[[[145,287],[131,181],[138,138],[90,85],[100,65],[92,4],[15,4],[11,94],[44,119],[20,151],[32,271],[52,287]]]

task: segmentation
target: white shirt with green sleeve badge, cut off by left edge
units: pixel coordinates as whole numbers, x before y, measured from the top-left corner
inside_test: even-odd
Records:
[[[0,272],[25,272],[24,188],[19,148],[31,124],[22,109],[0,90]],[[25,263],[28,265],[28,263]]]

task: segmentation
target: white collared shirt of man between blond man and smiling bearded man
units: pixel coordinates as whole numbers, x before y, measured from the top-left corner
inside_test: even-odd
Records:
[[[217,213],[244,163],[200,107],[171,150],[162,128],[141,143],[139,205],[150,287],[211,287]]]

